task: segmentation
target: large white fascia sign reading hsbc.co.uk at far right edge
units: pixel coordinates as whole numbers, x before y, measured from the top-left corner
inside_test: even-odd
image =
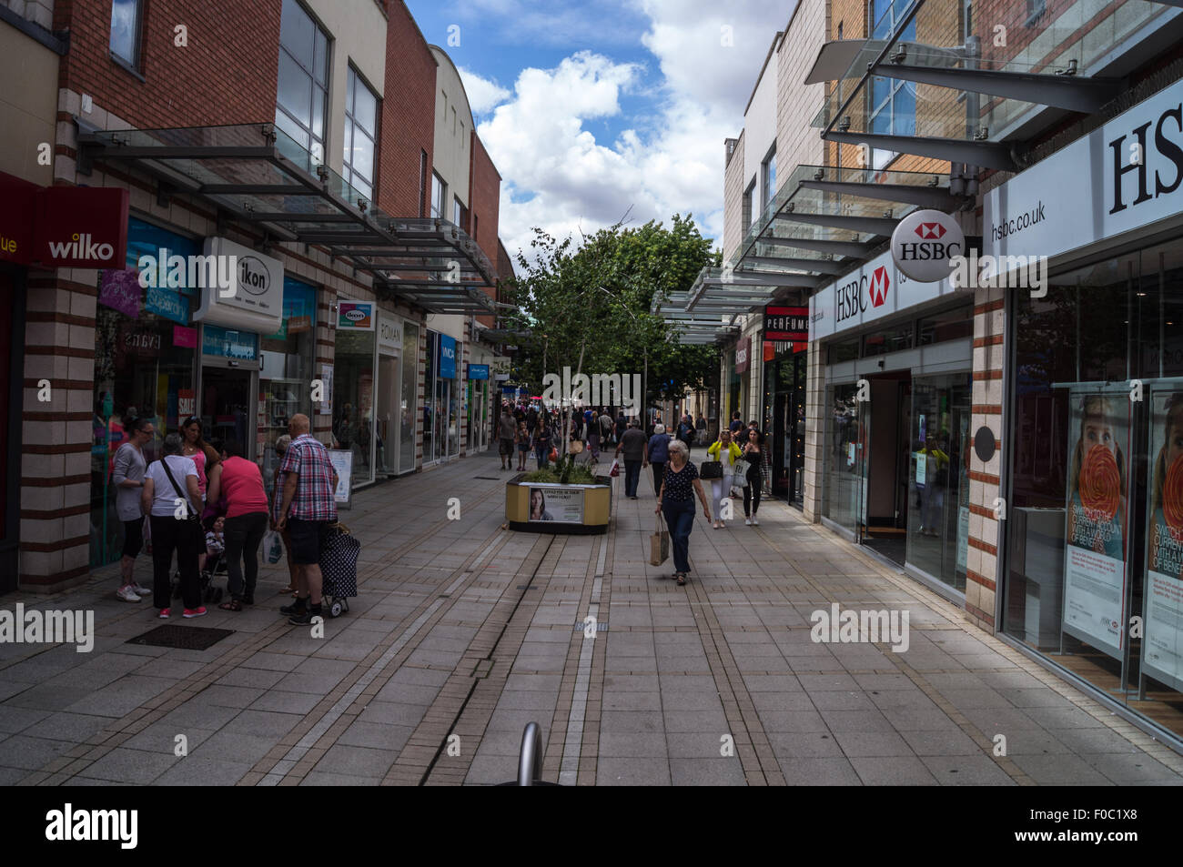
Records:
[[[983,253],[1054,257],[1183,213],[1183,80],[985,194]]]

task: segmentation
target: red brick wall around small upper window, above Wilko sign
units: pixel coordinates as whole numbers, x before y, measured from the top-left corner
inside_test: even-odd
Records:
[[[142,6],[137,76],[111,57],[110,0],[58,0],[53,27],[70,31],[58,86],[91,95],[141,129],[274,119],[280,0]],[[174,45],[177,25],[187,47]]]

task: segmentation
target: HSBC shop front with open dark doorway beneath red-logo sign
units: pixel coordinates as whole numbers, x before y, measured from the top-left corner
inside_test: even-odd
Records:
[[[822,522],[957,599],[969,544],[971,297],[891,253],[810,298],[825,395]]]

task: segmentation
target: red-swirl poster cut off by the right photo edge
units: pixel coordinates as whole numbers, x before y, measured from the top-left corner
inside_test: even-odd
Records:
[[[1150,399],[1143,672],[1183,688],[1183,390]]]

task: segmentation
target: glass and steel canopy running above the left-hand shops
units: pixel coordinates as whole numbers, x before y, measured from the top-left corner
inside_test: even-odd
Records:
[[[78,170],[121,161],[157,179],[157,200],[205,199],[258,227],[265,244],[325,247],[369,273],[380,298],[435,313],[493,313],[492,264],[447,220],[395,218],[270,123],[97,130],[79,121]],[[220,216],[221,218],[221,213]]]

